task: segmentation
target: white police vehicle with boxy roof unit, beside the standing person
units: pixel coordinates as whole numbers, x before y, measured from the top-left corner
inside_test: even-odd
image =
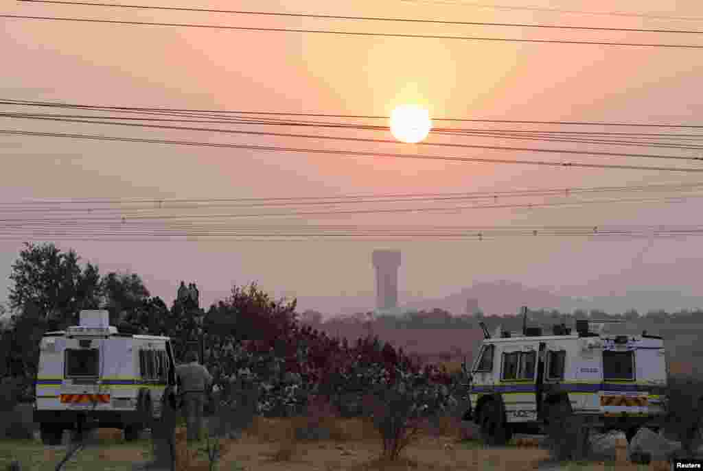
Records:
[[[167,387],[176,390],[171,340],[120,333],[108,311],[83,310],[79,326],[44,334],[34,423],[45,444],[63,430],[108,427],[131,441],[159,418]]]

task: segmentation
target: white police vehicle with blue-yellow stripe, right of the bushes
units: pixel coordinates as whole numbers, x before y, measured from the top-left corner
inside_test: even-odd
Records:
[[[538,328],[484,340],[470,371],[469,410],[484,441],[505,444],[514,433],[546,433],[550,421],[577,417],[586,430],[658,430],[666,414],[667,367],[661,337],[609,335],[577,320],[551,335]],[[592,329],[596,327],[596,329]],[[595,330],[592,331],[592,330]]]

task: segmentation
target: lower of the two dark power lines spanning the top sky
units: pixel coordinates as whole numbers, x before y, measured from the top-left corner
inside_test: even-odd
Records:
[[[608,41],[572,41],[565,39],[517,39],[517,38],[496,38],[496,37],[472,37],[472,36],[444,36],[432,34],[400,34],[400,33],[375,33],[375,32],[352,32],[352,31],[332,31],[329,29],[295,29],[295,28],[262,28],[243,27],[226,25],[198,25],[195,23],[168,23],[168,22],[146,22],[146,21],[119,21],[119,20],[96,20],[93,18],[64,18],[53,16],[28,16],[28,15],[0,15],[0,18],[15,20],[46,20],[46,21],[69,21],[69,22],[91,22],[109,25],[131,25],[131,26],[165,26],[165,27],[190,27],[222,29],[231,31],[250,32],[294,32],[307,34],[337,34],[340,36],[355,37],[395,37],[395,38],[415,38],[415,39],[451,39],[461,41],[494,41],[503,43],[533,43],[533,44],[588,44],[591,46],[619,46],[619,47],[646,47],[646,48],[674,48],[674,49],[703,49],[703,45],[697,44],[663,44],[663,43],[621,43]]]

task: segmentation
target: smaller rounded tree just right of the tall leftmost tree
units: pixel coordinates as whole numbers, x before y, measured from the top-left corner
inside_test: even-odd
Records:
[[[105,307],[110,312],[110,324],[143,307],[150,296],[138,274],[110,272],[101,279],[100,293]]]

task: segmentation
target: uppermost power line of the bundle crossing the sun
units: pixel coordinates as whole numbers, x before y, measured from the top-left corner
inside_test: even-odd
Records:
[[[1,17],[2,15],[0,15]],[[703,47],[703,46],[701,46]],[[297,117],[320,117],[320,118],[344,118],[344,119],[390,119],[388,116],[364,115],[364,114],[325,114],[325,113],[295,113],[295,112],[264,112],[245,110],[188,110],[183,108],[150,108],[150,107],[124,107],[105,105],[79,105],[75,103],[41,102],[30,100],[13,100],[0,98],[2,105],[28,105],[37,107],[69,107],[82,108],[86,110],[114,110],[120,112],[175,112],[175,113],[210,113],[210,114],[261,114],[276,116],[297,116]],[[546,124],[546,125],[567,125],[567,126],[621,126],[621,127],[654,127],[654,128],[695,128],[703,129],[703,124],[650,124],[650,123],[613,123],[601,121],[535,121],[535,120],[510,120],[510,119],[470,119],[470,118],[432,118],[432,121],[466,121],[475,123],[493,124]],[[387,126],[384,126],[387,128]],[[572,131],[569,131],[572,132]]]

